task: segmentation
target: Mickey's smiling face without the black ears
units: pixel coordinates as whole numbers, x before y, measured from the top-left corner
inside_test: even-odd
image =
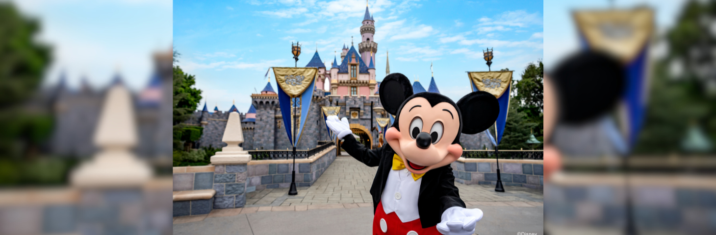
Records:
[[[386,139],[410,172],[423,174],[463,154],[460,144],[453,144],[460,129],[458,109],[453,104],[432,106],[427,99],[415,97],[402,106],[397,120],[401,131],[388,129]]]

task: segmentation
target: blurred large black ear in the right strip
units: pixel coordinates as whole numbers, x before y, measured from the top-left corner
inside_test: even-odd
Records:
[[[614,110],[624,94],[625,74],[619,61],[596,51],[564,59],[552,74],[561,121],[579,124]]]

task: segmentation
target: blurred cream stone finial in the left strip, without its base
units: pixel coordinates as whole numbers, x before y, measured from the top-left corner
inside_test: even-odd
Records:
[[[72,171],[73,186],[138,187],[152,177],[150,167],[130,151],[137,144],[137,126],[130,92],[122,84],[107,91],[94,142],[101,150]]]

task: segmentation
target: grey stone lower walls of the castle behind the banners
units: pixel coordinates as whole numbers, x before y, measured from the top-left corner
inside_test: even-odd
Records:
[[[377,111],[371,110],[371,102],[373,102],[373,108],[377,109]],[[256,108],[256,122],[241,123],[244,139],[241,146],[246,150],[291,149],[291,142],[286,134],[278,96],[256,96],[252,99],[252,104]],[[371,127],[371,112],[373,112],[373,119],[387,117],[387,114],[382,111],[379,96],[326,96],[324,91],[316,90],[296,149],[313,149],[318,145],[318,141],[330,140],[323,120],[323,111],[321,110],[323,106],[341,106],[338,114],[339,119],[347,117],[349,123],[364,126],[373,137],[374,143],[372,144],[377,145],[378,124],[377,121],[373,120],[372,127],[376,129]],[[350,116],[351,110],[358,110],[359,116],[352,119]],[[201,125],[201,120],[207,122],[207,124],[203,125],[204,131],[200,141],[198,141],[198,146],[213,146],[215,148],[226,146],[221,141],[221,138],[226,128],[228,112],[219,111],[216,114],[206,113],[204,115],[202,117],[202,112],[195,112],[192,118],[187,121],[191,125]],[[245,116],[246,114],[241,114],[241,120],[245,119]],[[463,144],[465,149],[484,149],[485,146],[488,149],[493,149],[488,136],[484,133],[460,135],[460,143]]]

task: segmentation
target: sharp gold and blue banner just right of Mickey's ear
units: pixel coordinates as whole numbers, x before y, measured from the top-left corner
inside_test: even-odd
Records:
[[[495,120],[495,146],[500,144],[505,133],[508,109],[510,108],[510,86],[513,71],[468,72],[473,91],[487,91],[497,97],[500,114]]]

